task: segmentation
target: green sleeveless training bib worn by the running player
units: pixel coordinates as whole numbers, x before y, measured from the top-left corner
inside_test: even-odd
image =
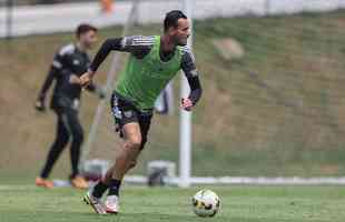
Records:
[[[135,102],[140,110],[151,109],[166,84],[180,70],[183,51],[175,49],[174,57],[161,61],[160,37],[154,37],[151,50],[142,59],[130,54],[125,71],[120,74],[116,91]]]

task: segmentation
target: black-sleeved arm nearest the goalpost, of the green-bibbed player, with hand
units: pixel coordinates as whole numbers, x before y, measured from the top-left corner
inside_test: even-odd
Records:
[[[200,100],[203,88],[199,79],[199,72],[195,64],[194,56],[189,50],[186,50],[183,54],[181,69],[184,70],[190,87],[190,93],[188,98],[181,99],[181,108],[190,111],[190,109]]]

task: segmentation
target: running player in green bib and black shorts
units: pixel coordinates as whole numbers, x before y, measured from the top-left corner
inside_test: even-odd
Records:
[[[194,56],[186,47],[189,34],[187,17],[181,11],[170,11],[164,20],[162,36],[108,39],[97,52],[88,72],[80,77],[80,84],[88,85],[111,50],[130,53],[111,98],[111,111],[124,143],[106,176],[83,196],[97,213],[119,212],[121,181],[136,165],[147,142],[155,100],[180,69],[191,89],[189,97],[181,99],[181,108],[190,111],[200,99],[199,74]],[[107,190],[109,192],[102,204],[100,199]]]

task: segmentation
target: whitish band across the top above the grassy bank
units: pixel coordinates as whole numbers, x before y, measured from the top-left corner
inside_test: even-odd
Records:
[[[267,16],[298,13],[303,11],[332,11],[345,8],[345,0],[194,0],[195,19],[239,16]],[[161,22],[171,9],[181,9],[181,1],[142,0],[138,20],[141,23]],[[16,7],[12,13],[12,36],[72,31],[80,22],[91,22],[98,27],[124,24],[131,2],[120,1],[115,12],[103,14],[97,2],[63,3],[52,6]],[[0,37],[8,32],[8,11],[0,9]]]

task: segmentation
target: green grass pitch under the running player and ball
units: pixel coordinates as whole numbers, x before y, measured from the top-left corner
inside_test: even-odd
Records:
[[[0,185],[1,222],[343,222],[342,186],[210,186],[221,199],[213,219],[194,215],[198,188],[125,186],[119,215],[97,215],[81,202],[82,191]]]

